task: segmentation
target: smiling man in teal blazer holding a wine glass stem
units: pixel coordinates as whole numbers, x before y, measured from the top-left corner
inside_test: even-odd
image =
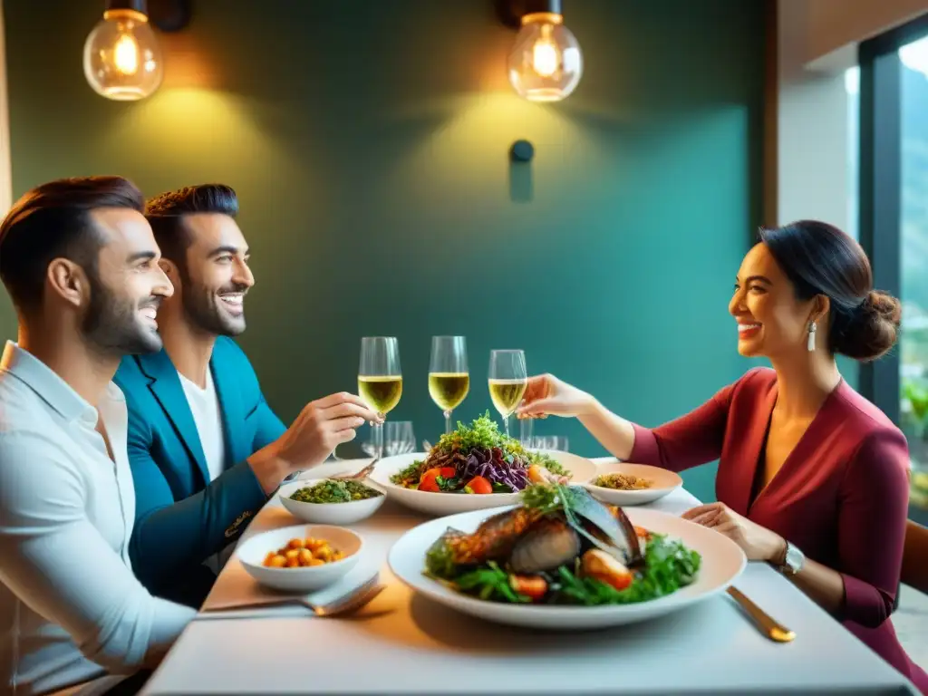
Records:
[[[158,313],[163,350],[124,358],[115,377],[129,410],[133,569],[153,594],[192,606],[279,483],[378,418],[354,394],[333,394],[288,430],[267,405],[230,338],[245,329],[254,284],[237,213],[235,191],[221,185],[148,201],[174,296]]]

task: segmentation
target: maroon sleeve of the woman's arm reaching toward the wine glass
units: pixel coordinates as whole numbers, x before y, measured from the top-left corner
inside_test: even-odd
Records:
[[[632,423],[635,445],[632,445],[628,461],[682,471],[721,457],[731,393],[739,382],[747,380],[756,370],[754,368],[741,380],[719,390],[686,416],[658,428],[650,430]]]

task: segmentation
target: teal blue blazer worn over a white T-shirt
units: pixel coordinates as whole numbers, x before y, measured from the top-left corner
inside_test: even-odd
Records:
[[[114,378],[129,409],[133,570],[152,594],[194,605],[215,580],[202,562],[235,541],[267,501],[246,459],[286,431],[236,342],[217,339],[210,369],[226,437],[226,468],[213,483],[168,354],[127,355]]]

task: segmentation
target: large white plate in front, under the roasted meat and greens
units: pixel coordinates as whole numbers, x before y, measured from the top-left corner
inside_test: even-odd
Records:
[[[425,554],[448,527],[473,532],[487,517],[502,509],[474,510],[430,520],[406,532],[390,549],[389,563],[413,592],[447,607],[498,624],[520,625],[558,631],[586,630],[634,624],[677,612],[724,592],[744,570],[747,559],[727,536],[666,512],[633,508],[625,510],[635,525],[682,541],[702,556],[696,580],[671,595],[635,604],[599,607],[508,604],[460,594],[426,577]]]

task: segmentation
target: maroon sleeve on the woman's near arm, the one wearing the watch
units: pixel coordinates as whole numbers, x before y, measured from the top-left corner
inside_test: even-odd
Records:
[[[840,491],[838,553],[842,619],[870,628],[893,612],[909,517],[909,447],[885,429],[870,434],[848,462]]]

